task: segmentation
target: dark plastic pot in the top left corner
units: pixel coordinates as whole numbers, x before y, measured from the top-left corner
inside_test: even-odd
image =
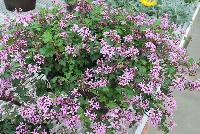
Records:
[[[20,11],[27,12],[35,9],[36,0],[4,0],[6,9],[9,11]]]

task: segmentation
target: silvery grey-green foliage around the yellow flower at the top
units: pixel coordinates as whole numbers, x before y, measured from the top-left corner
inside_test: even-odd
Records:
[[[107,2],[114,7],[124,6],[157,18],[167,13],[171,22],[179,24],[184,29],[190,24],[198,5],[198,0],[158,0],[158,4],[153,7],[145,7],[138,0],[107,0]]]

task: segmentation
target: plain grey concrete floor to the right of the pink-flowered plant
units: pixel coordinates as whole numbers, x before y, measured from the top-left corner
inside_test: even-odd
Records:
[[[189,36],[192,41],[188,45],[188,53],[196,61],[200,58],[200,12],[191,27]],[[200,78],[200,71],[195,79]],[[177,111],[174,120],[177,127],[171,134],[200,134],[200,92],[174,92],[177,100]],[[161,134],[158,130],[150,128],[149,134]]]

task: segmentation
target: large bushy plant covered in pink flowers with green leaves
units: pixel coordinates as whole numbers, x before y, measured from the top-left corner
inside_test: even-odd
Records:
[[[21,17],[1,28],[3,133],[128,133],[144,114],[168,133],[173,90],[199,90],[167,15],[81,0]]]

